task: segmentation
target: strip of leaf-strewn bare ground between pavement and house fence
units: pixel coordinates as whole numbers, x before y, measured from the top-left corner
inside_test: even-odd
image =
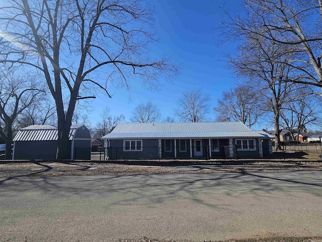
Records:
[[[160,163],[157,163],[160,164]],[[321,162],[308,161],[238,161],[190,162],[177,165],[128,165],[95,162],[33,162],[0,164],[0,177],[56,176],[56,175],[137,175],[137,174],[187,174],[227,172],[268,172],[321,170]],[[179,164],[179,165],[178,165]]]

